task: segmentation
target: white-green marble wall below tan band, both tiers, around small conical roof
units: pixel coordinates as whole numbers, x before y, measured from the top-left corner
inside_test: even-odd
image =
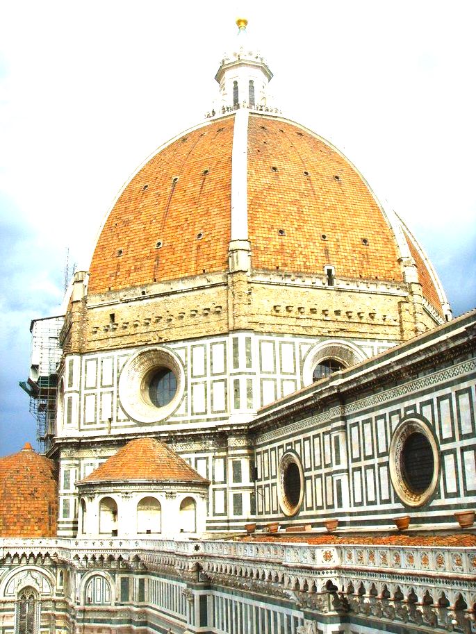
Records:
[[[170,413],[161,408],[152,410],[150,420],[147,416],[135,419],[134,408],[142,407],[142,370],[133,364],[143,351],[154,347],[67,355],[60,376],[63,400],[58,406],[56,439],[61,447],[59,533],[76,534],[76,480],[88,476],[117,451],[119,447],[111,444],[111,439],[122,445],[142,433],[154,433],[168,442],[182,437],[174,441],[174,449],[212,482],[208,528],[243,525],[254,513],[254,483],[249,476],[251,448],[246,442],[236,449],[226,443],[223,447],[218,440],[220,428],[224,424],[241,426],[258,408],[311,383],[316,351],[321,347],[326,350],[328,344],[323,337],[258,335],[249,331],[161,344],[158,350],[177,360],[177,374],[183,380],[179,381],[174,409]],[[357,360],[391,345],[385,340],[368,339],[331,340],[330,344],[332,350],[352,347]],[[138,417],[141,414],[139,409]],[[191,434],[198,436],[198,442],[190,438]],[[85,444],[88,439],[91,445]],[[79,442],[83,443],[81,449]],[[233,451],[243,451],[239,466]]]

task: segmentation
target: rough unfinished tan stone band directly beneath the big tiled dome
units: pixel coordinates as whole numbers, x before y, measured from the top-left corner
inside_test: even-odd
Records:
[[[331,267],[334,275],[334,267]],[[67,352],[94,352],[252,329],[262,333],[407,340],[441,323],[404,283],[254,272],[211,274],[88,296],[67,319]],[[413,293],[414,294],[414,293]],[[413,297],[413,295],[412,295]],[[426,304],[427,309],[423,307]],[[81,317],[82,315],[82,317]]]

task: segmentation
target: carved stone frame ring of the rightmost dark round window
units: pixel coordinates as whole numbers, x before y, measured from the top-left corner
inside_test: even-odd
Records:
[[[402,473],[402,451],[405,442],[413,433],[420,433],[425,436],[433,454],[432,480],[425,491],[421,493],[416,493],[410,489]],[[440,451],[432,428],[427,422],[416,417],[402,420],[393,433],[388,453],[390,458],[388,461],[390,464],[390,479],[397,496],[405,506],[414,508],[425,504],[434,494],[440,476]]]

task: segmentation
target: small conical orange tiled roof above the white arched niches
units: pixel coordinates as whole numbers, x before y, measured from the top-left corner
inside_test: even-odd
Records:
[[[164,442],[138,438],[128,442],[79,484],[123,480],[208,482]]]

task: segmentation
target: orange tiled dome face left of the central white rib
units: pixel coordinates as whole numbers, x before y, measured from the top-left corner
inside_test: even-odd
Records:
[[[186,133],[133,176],[101,231],[88,292],[227,269],[233,123]]]

